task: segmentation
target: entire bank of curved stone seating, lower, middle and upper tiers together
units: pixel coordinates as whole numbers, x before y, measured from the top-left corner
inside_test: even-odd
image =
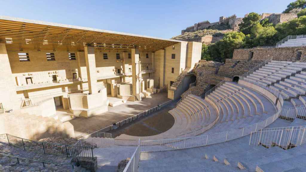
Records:
[[[175,138],[186,133],[215,125],[202,133],[212,134],[261,122],[277,112],[275,102],[249,88],[258,84],[280,91],[285,97],[283,106],[294,107],[306,104],[306,63],[271,61],[247,77],[236,82],[226,82],[205,99],[189,94],[169,113],[174,117],[174,125],[166,132],[154,136],[137,137],[122,134],[116,139],[154,140]],[[298,113],[298,112],[297,112]],[[306,112],[302,116],[306,117]],[[199,133],[197,133],[199,134]]]

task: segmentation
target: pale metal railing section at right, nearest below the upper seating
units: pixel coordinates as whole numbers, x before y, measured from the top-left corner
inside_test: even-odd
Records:
[[[306,143],[306,125],[262,129],[251,133],[250,146],[279,146],[283,149],[300,146]]]

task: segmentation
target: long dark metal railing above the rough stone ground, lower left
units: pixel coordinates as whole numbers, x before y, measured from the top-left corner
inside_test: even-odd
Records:
[[[66,155],[67,157],[93,158],[93,148],[91,147],[39,142],[12,136],[10,134],[6,134],[6,137],[10,145],[24,148],[24,150],[37,151],[44,154]]]

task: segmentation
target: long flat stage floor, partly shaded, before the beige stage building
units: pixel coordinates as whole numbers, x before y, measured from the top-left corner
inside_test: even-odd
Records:
[[[124,104],[108,107],[108,112],[93,116],[91,118],[76,118],[69,121],[74,127],[75,136],[86,133],[88,130],[97,131],[108,125],[114,124],[134,114],[155,107],[169,101],[168,93],[162,92],[151,95],[152,98],[145,98],[142,101],[127,101]]]

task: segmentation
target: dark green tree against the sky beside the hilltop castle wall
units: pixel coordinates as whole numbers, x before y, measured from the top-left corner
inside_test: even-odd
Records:
[[[248,35],[251,33],[251,28],[259,23],[260,16],[257,13],[249,13],[247,17],[242,19],[243,23],[240,23],[239,31],[244,33],[244,35]]]

